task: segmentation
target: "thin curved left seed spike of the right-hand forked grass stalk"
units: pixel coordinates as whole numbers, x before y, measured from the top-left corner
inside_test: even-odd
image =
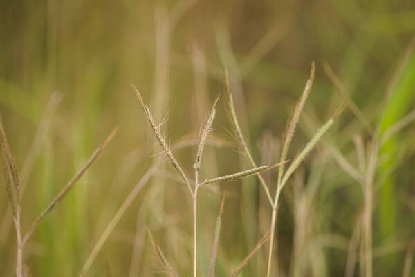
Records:
[[[230,112],[230,120],[232,123],[232,127],[234,129],[235,136],[237,136],[239,145],[243,153],[246,155],[248,162],[250,163],[252,168],[256,168],[257,163],[255,163],[254,159],[252,158],[252,154],[249,151],[248,144],[246,143],[245,137],[242,134],[241,127],[239,127],[237,113],[234,108],[232,93],[230,93],[230,81],[229,81],[228,71],[225,71],[225,81],[226,81],[226,96],[227,96],[226,98],[228,102],[228,110]],[[271,205],[273,205],[273,198],[270,195],[270,190],[264,180],[264,177],[262,177],[260,173],[257,173],[257,177],[259,179],[259,182],[261,183],[262,188],[264,188],[266,196],[268,197],[268,201],[270,202]]]

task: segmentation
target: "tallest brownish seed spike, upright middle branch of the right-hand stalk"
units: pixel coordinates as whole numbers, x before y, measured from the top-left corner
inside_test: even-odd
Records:
[[[284,144],[282,145],[280,161],[284,161],[287,158],[288,150],[290,148],[291,141],[293,141],[293,136],[295,134],[295,127],[297,127],[299,116],[301,115],[304,105],[306,104],[308,95],[311,92],[311,87],[313,87],[314,78],[315,78],[315,64],[314,62],[312,62],[311,69],[310,69],[310,77],[308,78],[306,82],[306,86],[304,87],[304,91],[302,93],[301,98],[299,98],[297,105],[295,105],[293,118],[291,118],[290,123],[288,123],[288,128],[286,130],[286,135],[284,138]],[[284,166],[280,166],[278,170],[278,184],[281,183],[283,173],[284,173]]]

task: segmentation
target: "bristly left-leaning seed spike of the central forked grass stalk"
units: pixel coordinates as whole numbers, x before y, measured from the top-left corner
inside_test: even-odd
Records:
[[[161,148],[163,148],[167,159],[170,161],[170,163],[172,163],[172,166],[177,170],[178,174],[182,177],[183,181],[185,181],[185,183],[187,184],[187,187],[190,190],[190,193],[193,195],[192,187],[190,186],[189,180],[187,179],[187,177],[185,175],[185,172],[182,170],[181,166],[178,164],[178,161],[176,161],[176,158],[174,158],[174,156],[172,154],[172,150],[170,150],[169,145],[167,145],[165,139],[161,135],[160,126],[156,125],[156,123],[154,121],[154,118],[151,115],[151,111],[144,104],[144,101],[142,100],[141,94],[138,91],[138,89],[134,85],[132,85],[131,87],[133,88],[134,92],[136,93],[136,96],[137,96],[138,100],[140,100],[140,104],[141,104],[142,109],[144,110],[147,121],[149,122],[149,125],[151,126],[151,129],[153,129],[153,132],[156,135],[156,139],[157,139],[158,143],[160,143]]]

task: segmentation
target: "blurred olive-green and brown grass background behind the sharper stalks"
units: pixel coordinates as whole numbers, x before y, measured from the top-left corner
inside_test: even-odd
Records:
[[[413,55],[388,92],[415,32],[414,1],[3,0],[0,5],[0,111],[27,184],[24,230],[111,129],[120,126],[109,148],[26,247],[33,276],[77,276],[124,198],[151,164],[163,159],[152,156],[159,149],[131,84],[151,103],[156,120],[167,115],[163,130],[174,145],[197,136],[210,102],[224,90],[226,67],[257,163],[277,161],[286,120],[313,60],[316,80],[291,157],[342,103],[323,62],[331,64],[381,133],[415,107]],[[248,168],[235,151],[237,143],[230,141],[223,107],[221,98],[213,134],[227,143],[208,147],[203,174],[209,177]],[[330,141],[357,168],[356,135],[368,139],[350,111],[330,132]],[[375,276],[400,276],[415,239],[414,137],[414,125],[409,125],[380,150],[374,184]],[[284,192],[278,231],[283,276],[295,275],[293,267],[304,267],[302,276],[344,275],[364,197],[360,184],[328,149],[327,141],[320,143],[295,185]],[[191,172],[194,150],[176,154]],[[111,233],[88,276],[157,274],[147,227],[172,265],[183,276],[191,271],[191,199],[171,175],[169,166],[158,170]],[[275,172],[265,176],[276,178]],[[254,177],[219,187],[237,195],[225,204],[221,231],[217,276],[228,276],[267,230],[270,207]],[[309,201],[309,214],[298,226],[295,211],[302,196]],[[208,274],[219,203],[218,195],[201,194],[201,276]],[[15,264],[7,207],[6,193],[1,193],[1,276],[12,276]],[[299,261],[293,258],[294,233],[304,226],[308,231]],[[266,248],[242,276],[264,276]],[[355,271],[364,276],[358,265]],[[414,269],[408,276],[413,274]]]

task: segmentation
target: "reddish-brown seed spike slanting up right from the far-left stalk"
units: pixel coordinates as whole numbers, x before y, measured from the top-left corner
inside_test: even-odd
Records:
[[[100,156],[102,150],[104,150],[104,148],[108,145],[108,143],[111,141],[113,136],[115,136],[117,130],[118,130],[118,128],[114,129],[111,132],[111,134],[109,134],[107,139],[105,139],[104,143],[102,143],[102,145],[100,147],[98,147],[93,152],[91,157],[89,157],[89,160],[86,161],[84,166],[75,174],[75,177],[73,177],[73,179],[71,179],[71,181],[69,181],[68,184],[66,184],[66,186],[64,186],[64,188],[62,188],[62,190],[58,193],[58,195],[55,197],[55,199],[53,199],[53,201],[50,202],[50,204],[44,209],[44,211],[39,215],[39,217],[37,217],[37,219],[33,222],[32,226],[30,226],[30,231],[28,231],[28,233],[26,233],[26,235],[24,236],[23,243],[26,243],[28,238],[30,238],[30,235],[32,235],[33,231],[35,231],[35,229],[36,229],[37,225],[39,224],[39,222],[41,222],[44,219],[44,217],[48,213],[50,213],[50,211],[52,211],[53,208],[55,208],[55,206],[65,197],[65,195],[68,193],[68,191],[71,190],[71,188],[73,188],[73,186],[75,186],[77,181],[80,180],[80,178],[84,175],[86,170],[88,170],[88,168],[93,164],[93,162],[96,159],[98,159],[98,157]]]

